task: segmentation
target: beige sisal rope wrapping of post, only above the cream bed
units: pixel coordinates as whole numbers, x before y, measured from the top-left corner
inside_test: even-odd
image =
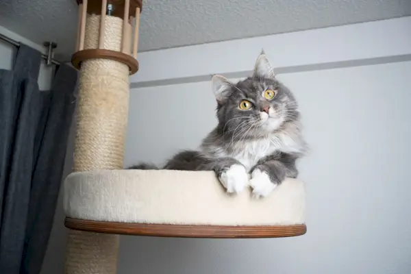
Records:
[[[90,15],[87,21],[84,49],[97,49],[100,16]],[[123,20],[105,16],[104,31],[102,49],[121,51]],[[86,60],[79,83],[75,170],[123,169],[129,68],[114,60]]]

